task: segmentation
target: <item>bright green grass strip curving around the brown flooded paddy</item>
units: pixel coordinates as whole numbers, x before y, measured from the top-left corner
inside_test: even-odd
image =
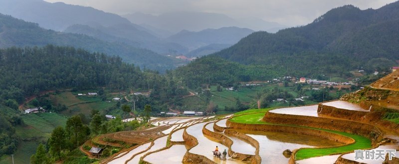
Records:
[[[244,124],[278,125],[278,124],[272,124],[272,123],[260,121],[263,118],[263,116],[265,115],[266,111],[268,111],[268,110],[271,110],[271,108],[245,110],[245,111],[236,113],[235,115],[238,115],[238,114],[243,114],[243,115],[235,116],[235,117],[231,118],[230,121],[237,122],[237,123],[244,123]],[[261,111],[264,111],[264,112],[261,112]],[[253,113],[253,112],[260,112],[260,113]],[[295,125],[284,125],[284,126],[295,126]],[[295,127],[303,127],[303,126],[295,126]],[[308,158],[312,158],[312,157],[327,156],[327,155],[332,155],[332,154],[341,154],[341,153],[350,152],[353,150],[371,148],[370,139],[363,137],[363,136],[345,133],[345,132],[327,130],[327,129],[318,129],[318,128],[311,128],[311,127],[305,127],[305,128],[317,129],[317,130],[328,131],[331,133],[341,134],[343,136],[353,138],[356,141],[356,143],[347,145],[347,146],[337,147],[337,148],[301,149],[300,151],[297,152],[297,154],[295,156],[296,160],[303,160],[303,159],[308,159]]]

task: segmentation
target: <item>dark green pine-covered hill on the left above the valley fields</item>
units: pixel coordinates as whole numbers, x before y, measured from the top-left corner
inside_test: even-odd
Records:
[[[157,113],[167,110],[167,103],[188,94],[171,74],[141,71],[139,67],[122,62],[120,57],[73,47],[0,49],[0,75],[0,157],[13,154],[21,141],[14,128],[23,124],[18,104],[42,91],[101,90],[103,87],[121,91],[151,90],[148,97],[140,96],[136,108],[150,104]],[[50,104],[46,110],[60,112],[60,108],[53,106],[56,104]]]

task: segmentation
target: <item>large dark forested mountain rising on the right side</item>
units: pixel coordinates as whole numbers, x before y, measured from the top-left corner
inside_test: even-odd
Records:
[[[370,72],[384,70],[399,59],[398,23],[399,2],[366,10],[345,5],[306,26],[275,34],[252,33],[213,56],[241,64],[282,66],[294,76],[314,72],[345,75],[362,67]],[[371,60],[373,65],[368,63]]]

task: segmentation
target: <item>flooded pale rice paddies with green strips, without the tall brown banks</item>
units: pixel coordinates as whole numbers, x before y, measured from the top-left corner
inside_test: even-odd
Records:
[[[332,105],[340,107],[345,110],[358,110],[367,111],[355,104],[342,102],[342,101],[331,101],[323,103],[323,105]],[[217,131],[213,129],[213,126],[218,126],[220,128],[231,128],[227,124],[227,120],[233,122],[242,122],[245,124],[258,124],[259,126],[274,125],[273,123],[261,121],[266,112],[272,112],[276,114],[294,115],[294,116],[311,116],[318,119],[324,119],[322,114],[317,113],[318,105],[309,105],[301,107],[290,107],[290,108],[280,108],[280,109],[261,109],[261,110],[250,110],[250,112],[241,112],[241,115],[224,115],[224,116],[211,116],[211,117],[197,117],[197,118],[185,118],[185,117],[172,117],[172,118],[159,118],[152,120],[152,124],[156,127],[143,130],[142,135],[160,135],[159,137],[154,137],[153,141],[144,143],[138,146],[136,149],[127,150],[115,156],[112,160],[109,160],[109,164],[138,164],[140,160],[151,164],[180,164],[186,163],[185,160],[195,160],[190,159],[194,156],[205,158],[207,160],[213,161],[217,164],[241,164],[250,163],[250,161],[244,162],[241,159],[235,159],[237,157],[227,157],[227,160],[220,160],[212,155],[212,150],[216,146],[219,147],[220,151],[224,149],[228,150],[229,146],[221,144],[221,140],[218,138],[213,138],[211,136],[205,135],[202,132],[202,128],[209,130],[214,134],[222,135],[231,141],[231,150],[246,155],[247,157],[255,157],[259,155],[261,161],[255,163],[261,164],[287,164],[289,159],[292,158],[291,155],[283,155],[282,152],[286,149],[295,150],[300,149],[294,156],[296,158],[297,164],[334,164],[340,155],[343,153],[343,159],[366,163],[366,164],[382,164],[382,161],[359,161],[354,159],[354,153],[351,151],[356,149],[367,149],[371,148],[371,142],[366,137],[359,135],[333,131],[328,129],[318,129],[313,127],[303,127],[296,125],[279,125],[279,126],[290,126],[298,128],[309,128],[312,130],[320,130],[329,133],[336,133],[349,138],[354,139],[356,142],[354,144],[349,144],[344,146],[343,143],[339,143],[333,140],[320,138],[317,136],[310,136],[305,134],[297,134],[290,132],[273,132],[273,131],[250,131],[244,129],[231,129],[237,132],[237,134],[243,134],[251,139],[258,142],[259,148],[255,148],[248,139],[243,139],[231,134],[225,134],[222,131]],[[259,112],[263,111],[263,112]],[[255,113],[254,113],[255,112]],[[232,118],[231,118],[232,117]],[[331,117],[327,117],[331,118]],[[342,119],[341,119],[342,120]],[[146,131],[149,131],[145,133]],[[184,137],[184,132],[190,136],[193,136],[198,144],[194,146],[189,146],[188,142],[192,142],[189,138]],[[132,135],[133,134],[133,135]],[[114,136],[131,136],[134,138],[137,133],[124,132],[121,134],[114,134]],[[140,135],[140,133],[139,133]],[[390,134],[387,137],[393,139],[399,139],[399,136]],[[168,138],[170,141],[168,141]],[[167,143],[169,145],[167,145]],[[153,144],[153,146],[151,146]],[[224,143],[225,144],[225,143]],[[169,146],[169,147],[167,147]],[[191,148],[192,147],[192,148]],[[329,148],[325,148],[329,147]],[[190,149],[191,148],[191,149]],[[322,149],[313,149],[322,148]],[[398,149],[397,143],[389,143],[387,145],[382,145],[376,149]],[[162,149],[162,150],[161,150]],[[331,150],[330,155],[329,152]],[[317,151],[321,151],[322,154],[319,155]],[[191,155],[187,153],[189,152]],[[256,152],[259,152],[258,154]],[[399,154],[396,154],[399,156]],[[235,155],[233,155],[235,156]],[[321,156],[321,157],[317,157]],[[254,159],[254,158],[250,158]],[[299,160],[301,159],[301,160]],[[198,160],[198,159],[197,159]],[[203,159],[202,159],[203,160]],[[254,161],[252,161],[254,162]],[[196,163],[194,161],[194,163]],[[203,162],[197,162],[203,163]]]

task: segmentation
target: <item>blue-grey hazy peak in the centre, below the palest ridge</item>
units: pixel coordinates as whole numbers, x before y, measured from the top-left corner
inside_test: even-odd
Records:
[[[248,28],[223,27],[219,29],[205,29],[199,32],[183,30],[166,40],[195,50],[209,44],[235,44],[241,38],[254,32]]]

